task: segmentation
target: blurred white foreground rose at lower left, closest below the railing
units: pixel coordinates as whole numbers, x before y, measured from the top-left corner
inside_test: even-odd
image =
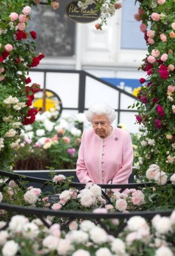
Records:
[[[28,222],[28,218],[22,215],[15,215],[9,222],[9,229],[13,232],[21,232],[22,227]]]

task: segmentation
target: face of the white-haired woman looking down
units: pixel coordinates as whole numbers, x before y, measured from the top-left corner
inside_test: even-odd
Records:
[[[110,122],[107,115],[94,115],[92,118],[92,127],[94,132],[102,137],[107,137],[109,133]]]

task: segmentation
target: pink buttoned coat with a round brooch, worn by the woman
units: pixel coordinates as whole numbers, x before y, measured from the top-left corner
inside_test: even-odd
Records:
[[[94,129],[81,138],[76,174],[81,183],[126,184],[132,173],[133,146],[129,132],[114,128],[106,138],[100,138]]]

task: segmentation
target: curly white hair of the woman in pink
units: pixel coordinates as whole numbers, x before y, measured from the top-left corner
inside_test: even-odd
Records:
[[[94,115],[106,115],[110,123],[112,123],[116,118],[115,110],[111,109],[111,107],[106,103],[97,103],[90,106],[88,112],[86,113],[87,120],[92,122]]]

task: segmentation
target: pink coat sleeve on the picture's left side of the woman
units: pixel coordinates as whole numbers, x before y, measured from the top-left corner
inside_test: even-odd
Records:
[[[76,167],[76,174],[80,183],[88,183],[91,180],[85,166],[85,161],[84,161],[84,136],[85,136],[85,133],[83,133],[81,137],[81,145],[78,151],[78,160],[77,160],[77,167]]]

